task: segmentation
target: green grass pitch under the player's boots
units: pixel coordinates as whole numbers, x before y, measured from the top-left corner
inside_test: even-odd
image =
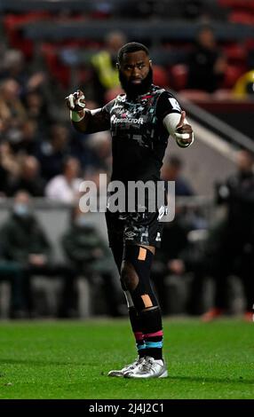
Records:
[[[0,398],[254,398],[254,324],[164,319],[169,377],[109,378],[136,352],[126,319],[0,324]]]

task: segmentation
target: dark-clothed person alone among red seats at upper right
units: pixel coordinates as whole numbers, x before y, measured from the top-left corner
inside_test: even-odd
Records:
[[[226,57],[219,51],[213,30],[202,27],[188,59],[187,89],[214,92],[221,87],[226,72]]]

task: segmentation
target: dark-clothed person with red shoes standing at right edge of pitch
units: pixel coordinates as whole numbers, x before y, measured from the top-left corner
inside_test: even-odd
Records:
[[[218,203],[226,204],[226,221],[220,233],[215,306],[203,319],[210,321],[226,311],[226,278],[230,274],[242,279],[246,306],[244,317],[252,320],[254,294],[254,174],[253,155],[239,151],[237,171],[225,184],[217,185]]]

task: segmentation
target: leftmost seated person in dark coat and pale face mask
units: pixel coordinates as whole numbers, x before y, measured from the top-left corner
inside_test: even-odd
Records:
[[[6,261],[18,263],[25,274],[25,303],[30,314],[36,311],[31,291],[31,279],[35,275],[63,279],[61,311],[72,311],[75,306],[74,272],[65,264],[53,262],[52,245],[32,210],[28,193],[15,195],[12,213],[0,232],[0,243]]]

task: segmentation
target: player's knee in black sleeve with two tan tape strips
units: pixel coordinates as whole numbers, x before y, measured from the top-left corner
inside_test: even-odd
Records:
[[[158,305],[151,287],[150,272],[154,255],[147,248],[128,245],[125,248],[122,285],[130,292],[137,311]]]

